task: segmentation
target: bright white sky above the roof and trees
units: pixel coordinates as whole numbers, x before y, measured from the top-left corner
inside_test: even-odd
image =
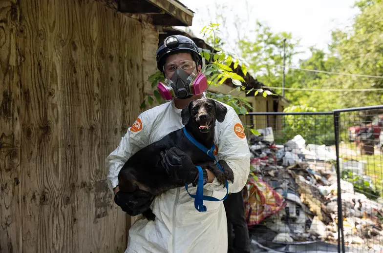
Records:
[[[222,28],[230,34],[227,36],[229,40],[238,37],[234,23],[240,24],[238,29],[240,36],[244,34],[254,36],[252,30],[255,29],[255,20],[267,24],[274,32],[291,32],[295,39],[301,39],[299,50],[305,52],[298,55],[295,62],[298,58],[310,56],[308,50],[310,46],[327,50],[327,44],[331,40],[331,30],[350,25],[352,18],[358,13],[357,8],[352,8],[355,0],[179,1],[195,12],[191,30],[199,38],[202,38],[200,34],[202,27],[209,21],[215,21],[216,12],[226,18],[225,27]],[[216,4],[224,7],[217,9]],[[230,50],[236,51],[234,47],[235,44],[232,44]]]

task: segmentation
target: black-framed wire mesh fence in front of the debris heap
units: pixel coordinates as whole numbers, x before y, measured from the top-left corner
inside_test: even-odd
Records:
[[[382,112],[247,115],[252,252],[383,252]]]

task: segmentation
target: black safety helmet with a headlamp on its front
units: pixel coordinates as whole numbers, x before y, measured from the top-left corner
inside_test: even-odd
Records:
[[[157,49],[157,68],[161,72],[164,72],[162,67],[166,58],[174,53],[190,53],[196,65],[202,65],[202,56],[194,41],[183,35],[172,35],[164,39]]]

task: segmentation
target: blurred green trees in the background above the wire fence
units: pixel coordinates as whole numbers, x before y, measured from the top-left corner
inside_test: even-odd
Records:
[[[311,47],[311,56],[299,61],[300,69],[383,75],[383,0],[357,0],[360,10],[351,26],[332,32],[329,53]],[[250,36],[253,37],[253,34]],[[249,37],[250,37],[249,36]],[[286,66],[297,55],[299,40],[290,33],[275,33],[258,22],[255,39],[242,39],[239,43],[242,56],[249,62],[248,69],[268,86],[281,87],[283,64],[283,39],[286,39]],[[278,66],[277,66],[278,65]],[[319,89],[318,92],[286,90],[285,96],[292,104],[305,104],[319,111],[346,107],[383,104],[381,91],[332,92],[326,89],[383,88],[383,78],[367,78],[337,74],[308,72],[286,68],[287,88]],[[281,93],[281,90],[278,90]]]

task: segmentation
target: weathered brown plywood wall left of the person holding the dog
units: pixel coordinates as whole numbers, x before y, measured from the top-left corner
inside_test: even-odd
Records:
[[[142,24],[93,0],[0,20],[0,252],[124,252],[104,160],[140,113]]]

